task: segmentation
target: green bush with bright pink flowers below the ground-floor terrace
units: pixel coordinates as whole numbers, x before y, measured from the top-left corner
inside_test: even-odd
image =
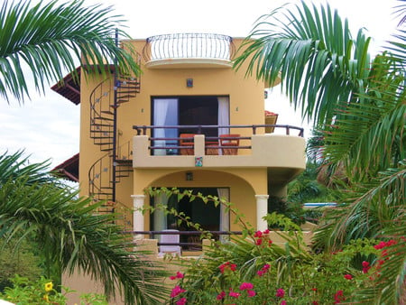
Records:
[[[381,255],[376,244],[357,240],[336,253],[313,254],[300,236],[281,247],[272,243],[268,230],[258,231],[250,239],[212,246],[186,273],[172,276],[177,283],[171,301],[340,304],[351,300],[354,291],[374,285]]]

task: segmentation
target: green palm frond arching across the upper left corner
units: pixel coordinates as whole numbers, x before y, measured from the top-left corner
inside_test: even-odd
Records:
[[[5,0],[0,7],[0,94],[7,100],[9,95],[19,101],[29,97],[30,79],[43,91],[46,83],[63,79],[80,62],[83,67],[97,65],[102,69],[93,70],[101,73],[112,62],[124,73],[139,74],[131,49],[115,45],[115,26],[123,20],[111,15],[111,7],[85,7],[83,0],[58,3]],[[118,33],[127,37],[122,30]]]

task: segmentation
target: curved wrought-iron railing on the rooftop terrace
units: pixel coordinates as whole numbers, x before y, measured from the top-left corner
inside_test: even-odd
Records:
[[[235,54],[233,38],[211,33],[177,33],[147,38],[143,48],[146,62],[153,60],[231,60]]]

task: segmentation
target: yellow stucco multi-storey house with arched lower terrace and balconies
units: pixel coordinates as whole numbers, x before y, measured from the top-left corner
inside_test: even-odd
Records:
[[[241,42],[217,34],[125,41],[143,54],[141,78],[112,69],[102,79],[82,69],[80,86],[70,76],[65,86],[55,85],[80,103],[81,195],[106,199],[105,212],[126,211],[127,230],[181,230],[171,215],[132,212],[157,202],[205,229],[241,230],[223,208],[145,194],[150,187],[194,189],[225,197],[263,230],[268,196],[286,197],[287,183],[305,169],[305,140],[300,127],[265,128],[270,86],[246,77],[246,66],[232,69]]]

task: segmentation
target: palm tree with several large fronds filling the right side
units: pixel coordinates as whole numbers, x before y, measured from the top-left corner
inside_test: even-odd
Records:
[[[258,79],[281,76],[291,103],[324,134],[324,164],[346,173],[345,203],[331,210],[316,235],[328,249],[361,237],[399,238],[406,231],[406,32],[399,30],[374,60],[369,42],[362,30],[353,38],[329,5],[301,2],[265,15],[235,60],[237,69],[248,61],[247,73]],[[397,255],[383,268],[384,280],[361,291],[359,300],[399,302],[406,252],[401,245],[391,251]]]

